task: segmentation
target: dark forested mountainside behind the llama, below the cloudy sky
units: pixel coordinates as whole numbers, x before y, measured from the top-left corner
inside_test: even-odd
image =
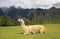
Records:
[[[18,18],[24,18],[26,24],[59,24],[60,8],[52,7],[50,9],[23,9],[20,7],[16,8],[11,6],[10,8],[0,9],[0,18],[0,20],[5,21],[5,23],[8,23],[8,21],[3,19],[11,19],[12,22],[9,21],[10,25],[19,25],[19,22],[17,21]],[[3,24],[5,23],[3,22]]]

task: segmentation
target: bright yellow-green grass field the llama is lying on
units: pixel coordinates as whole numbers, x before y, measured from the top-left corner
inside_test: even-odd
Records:
[[[0,39],[60,39],[60,24],[44,24],[46,33],[24,35],[20,26],[0,27]]]

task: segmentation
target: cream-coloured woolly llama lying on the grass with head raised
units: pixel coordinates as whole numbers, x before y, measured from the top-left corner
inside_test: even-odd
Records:
[[[43,25],[30,25],[26,26],[25,22],[22,18],[18,19],[18,21],[21,23],[21,26],[24,30],[24,34],[36,34],[36,33],[44,33],[45,32],[45,27]]]

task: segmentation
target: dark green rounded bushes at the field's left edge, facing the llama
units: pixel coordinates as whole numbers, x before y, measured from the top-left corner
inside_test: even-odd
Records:
[[[16,25],[16,21],[8,16],[0,16],[0,26]]]

